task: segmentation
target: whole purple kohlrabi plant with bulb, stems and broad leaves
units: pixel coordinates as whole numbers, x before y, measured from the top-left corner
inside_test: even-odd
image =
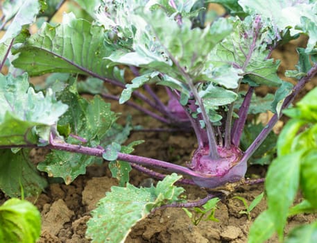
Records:
[[[317,73],[316,1],[76,0],[83,11],[51,23],[63,2],[2,5],[0,67],[7,65],[9,74],[0,76],[0,188],[15,196],[22,184],[26,194],[36,194],[46,186],[37,169],[69,184],[87,166],[108,161],[123,187],[112,187],[93,212],[87,235],[94,242],[122,242],[155,208],[201,206],[214,197],[186,204],[176,181],[209,189],[243,181],[252,154]],[[210,14],[211,2],[223,4],[225,14]],[[31,24],[39,28],[30,31]],[[292,85],[277,76],[280,61],[271,55],[300,34],[309,38],[307,47],[298,48],[298,65],[286,73],[296,81]],[[127,69],[135,76],[131,82]],[[51,76],[41,85],[28,79],[42,74]],[[83,76],[87,79],[78,81]],[[121,88],[121,95],[104,83]],[[168,102],[154,85],[166,90]],[[256,97],[262,85],[275,87],[275,94]],[[80,96],[87,93],[94,97]],[[123,145],[133,119],[117,124],[118,115],[102,98],[194,131],[198,145],[188,166],[130,154],[142,142]],[[248,114],[266,110],[275,114],[241,149]],[[51,152],[36,169],[28,153],[37,147]],[[164,180],[137,188],[128,183],[132,168]],[[114,230],[117,226],[122,228]]]

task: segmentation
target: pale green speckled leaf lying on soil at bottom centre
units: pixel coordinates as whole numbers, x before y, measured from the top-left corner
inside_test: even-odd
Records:
[[[166,200],[179,201],[177,196],[183,189],[173,185],[179,178],[176,174],[166,176],[157,188],[137,188],[129,183],[126,187],[111,187],[111,192],[107,192],[92,211],[86,236],[92,242],[124,242],[132,226],[153,208],[166,203]]]

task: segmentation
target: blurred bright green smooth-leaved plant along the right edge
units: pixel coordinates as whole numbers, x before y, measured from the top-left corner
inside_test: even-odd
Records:
[[[282,241],[290,215],[317,210],[317,87],[295,108],[284,110],[291,117],[277,140],[277,158],[266,175],[268,209],[250,228],[248,242],[264,242],[274,232]],[[304,201],[293,205],[301,190]],[[284,242],[315,242],[317,224],[294,228]]]

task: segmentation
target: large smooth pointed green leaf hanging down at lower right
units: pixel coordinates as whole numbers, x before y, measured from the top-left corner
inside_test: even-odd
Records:
[[[299,188],[301,157],[301,151],[277,157],[266,175],[268,211],[280,240],[283,237],[289,207]]]

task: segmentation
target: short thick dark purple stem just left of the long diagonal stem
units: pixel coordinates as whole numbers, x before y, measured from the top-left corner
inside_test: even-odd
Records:
[[[249,87],[248,92],[246,93],[246,97],[244,97],[243,103],[239,109],[239,118],[234,121],[232,126],[232,139],[231,142],[234,146],[239,147],[241,135],[243,132],[244,124],[246,124],[246,119],[248,117],[248,110],[250,107],[250,102],[252,98],[252,94],[254,91],[254,87]]]

